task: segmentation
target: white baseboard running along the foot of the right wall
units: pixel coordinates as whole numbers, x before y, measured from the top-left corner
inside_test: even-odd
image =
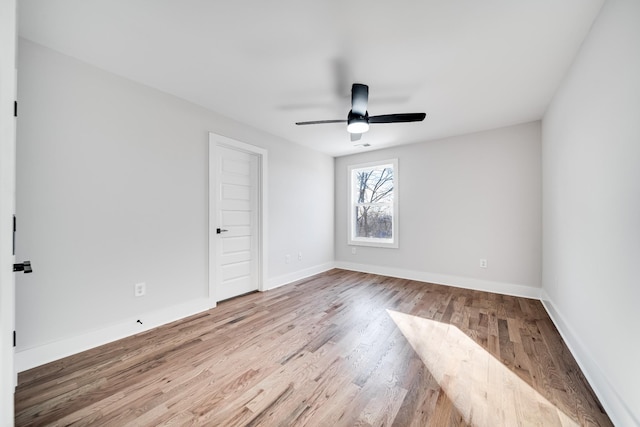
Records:
[[[565,321],[562,314],[556,309],[547,292],[542,289],[540,301],[551,317],[554,325],[560,332],[562,339],[567,344],[569,351],[578,362],[578,366],[587,378],[589,385],[602,403],[607,415],[616,426],[638,426],[640,420],[636,418],[622,397],[616,392],[600,366],[589,355],[582,340],[574,333],[573,328]]]

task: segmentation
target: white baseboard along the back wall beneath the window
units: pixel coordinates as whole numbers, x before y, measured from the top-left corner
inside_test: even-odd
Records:
[[[490,280],[474,279],[471,277],[449,276],[445,274],[429,273],[425,271],[405,270],[394,267],[384,267],[369,264],[356,264],[338,261],[336,268],[359,271],[362,273],[380,274],[382,276],[398,277],[400,279],[417,280],[420,282],[436,283],[457,288],[473,289],[477,291],[494,292],[503,295],[513,295],[524,298],[540,298],[540,288],[517,285],[512,283],[494,282]]]

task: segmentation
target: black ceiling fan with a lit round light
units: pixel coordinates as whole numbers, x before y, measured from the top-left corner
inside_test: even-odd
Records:
[[[296,122],[297,125],[319,125],[326,123],[346,123],[347,131],[351,134],[351,141],[357,141],[362,134],[369,130],[371,123],[402,123],[421,122],[426,117],[425,113],[399,113],[369,116],[367,103],[369,102],[369,86],[354,83],[351,86],[351,111],[347,120],[313,120],[309,122]]]

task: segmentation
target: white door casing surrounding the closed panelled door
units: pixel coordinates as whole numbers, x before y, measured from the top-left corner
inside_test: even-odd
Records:
[[[237,141],[232,138],[228,138],[223,135],[219,135],[213,132],[209,132],[209,306],[215,307],[217,304],[216,298],[216,242],[217,234],[216,228],[218,227],[217,218],[217,206],[215,200],[215,189],[217,184],[217,150],[216,147],[226,147],[232,150],[238,150],[245,153],[253,154],[258,159],[258,224],[257,224],[257,238],[258,256],[257,271],[258,271],[258,290],[266,290],[267,283],[267,224],[268,221],[268,209],[267,209],[267,165],[268,165],[268,151],[264,148],[257,147],[255,145],[247,144],[245,142]]]

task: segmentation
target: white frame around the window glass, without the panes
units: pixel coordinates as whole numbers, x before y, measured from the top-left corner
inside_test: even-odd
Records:
[[[355,222],[356,222],[356,195],[354,192],[356,191],[354,171],[360,169],[367,168],[375,168],[379,166],[391,166],[393,167],[393,203],[392,203],[392,212],[393,212],[393,222],[391,229],[391,238],[383,239],[383,238],[374,238],[374,237],[356,237],[355,236]],[[347,244],[352,246],[372,246],[378,248],[397,248],[398,247],[398,159],[387,159],[387,160],[379,160],[375,162],[369,163],[360,163],[357,165],[348,165],[347,166],[347,181],[348,188],[347,191]],[[388,205],[385,203],[385,205]]]

